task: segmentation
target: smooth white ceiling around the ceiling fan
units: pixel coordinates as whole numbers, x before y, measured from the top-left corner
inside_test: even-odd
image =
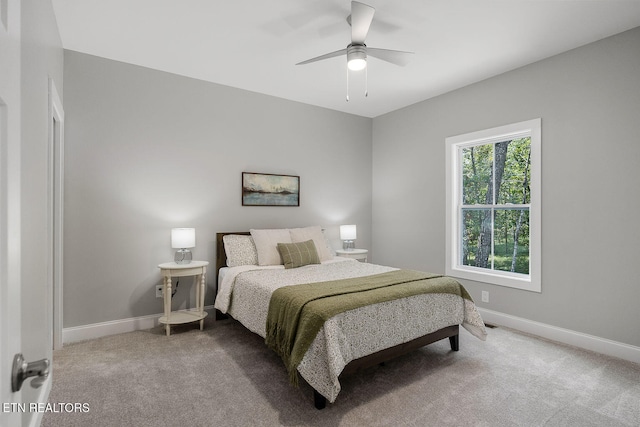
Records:
[[[415,52],[398,67],[344,57],[348,0],[53,0],[65,49],[365,117],[640,26],[640,1],[362,0],[366,43]],[[639,52],[640,54],[640,52]]]

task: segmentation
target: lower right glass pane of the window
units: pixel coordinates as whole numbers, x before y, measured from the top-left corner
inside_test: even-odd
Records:
[[[495,213],[494,269],[529,274],[529,209]]]

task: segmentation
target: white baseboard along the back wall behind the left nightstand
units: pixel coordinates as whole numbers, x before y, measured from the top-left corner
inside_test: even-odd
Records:
[[[211,312],[211,310],[213,310],[213,306],[205,306],[204,309],[205,311]],[[155,328],[160,324],[158,319],[162,316],[164,316],[164,314],[160,313],[149,316],[130,317],[128,319],[64,328],[62,330],[62,342],[63,344],[68,344],[77,341],[105,337],[107,335]]]

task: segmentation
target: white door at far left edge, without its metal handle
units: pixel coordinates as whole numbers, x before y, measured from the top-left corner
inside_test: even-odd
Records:
[[[21,347],[20,2],[0,0],[0,425],[22,425],[22,394],[11,390]]]

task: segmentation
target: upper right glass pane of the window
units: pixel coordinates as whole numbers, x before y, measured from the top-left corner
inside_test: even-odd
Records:
[[[514,139],[507,142],[506,158],[502,171],[502,180],[498,190],[498,204],[529,204],[531,195],[531,138]],[[496,152],[500,144],[496,144]],[[496,161],[496,168],[501,167]],[[500,171],[496,171],[500,176]]]

